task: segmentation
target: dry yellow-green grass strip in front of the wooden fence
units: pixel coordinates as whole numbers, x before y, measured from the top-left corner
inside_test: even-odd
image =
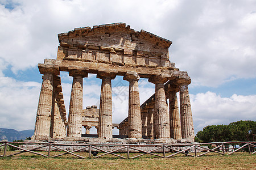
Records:
[[[88,153],[79,155],[88,156]],[[135,159],[121,159],[107,155],[105,158],[79,159],[70,155],[43,158],[23,153],[0,158],[0,169],[256,169],[256,155],[237,152],[233,155],[208,154],[199,158],[177,155],[163,159],[144,155]]]

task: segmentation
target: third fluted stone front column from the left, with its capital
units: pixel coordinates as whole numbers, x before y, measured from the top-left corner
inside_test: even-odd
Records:
[[[115,74],[109,72],[99,72],[97,78],[102,79],[100,115],[98,126],[99,138],[112,138],[112,85],[111,79]]]

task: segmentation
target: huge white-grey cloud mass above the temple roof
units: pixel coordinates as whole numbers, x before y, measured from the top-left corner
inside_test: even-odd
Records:
[[[194,86],[216,87],[230,76],[255,78],[254,1],[11,2],[19,5],[0,5],[0,57],[13,71],[55,58],[57,33],[126,22],[174,41],[171,61],[188,71]]]

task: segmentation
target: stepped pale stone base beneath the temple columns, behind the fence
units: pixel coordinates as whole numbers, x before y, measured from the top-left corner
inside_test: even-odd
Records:
[[[194,143],[191,139],[136,139],[136,138],[126,138],[126,139],[119,139],[119,138],[112,138],[112,139],[104,139],[104,138],[79,138],[79,137],[65,137],[64,139],[51,139],[46,137],[39,138],[36,137],[36,140],[26,140],[25,142],[35,142],[35,144],[30,145],[23,145],[23,148],[26,148],[27,150],[32,150],[32,148],[38,147],[40,145],[45,144],[38,144],[36,142],[43,142],[43,143],[52,143],[52,145],[56,145],[59,148],[62,148],[67,151],[75,151],[79,150],[83,147],[86,147],[86,145],[91,144],[96,148],[100,148],[101,150],[105,151],[114,151],[118,148],[121,148],[126,145],[130,145],[131,147],[138,148],[139,150],[143,151],[152,151],[156,148],[159,148],[163,146],[163,143],[166,145],[172,145],[171,148],[174,150],[184,150],[185,148],[188,148],[190,146],[186,146],[186,144],[192,144]],[[71,146],[72,145],[72,146]],[[184,145],[184,146],[181,146]],[[48,151],[48,146],[40,148],[37,151]],[[51,151],[58,151],[57,148],[51,147]],[[95,148],[92,148],[92,151],[98,151]],[[138,150],[130,149],[130,152],[139,152]],[[170,152],[170,149],[165,148],[166,152]],[[89,147],[85,148],[84,150],[81,150],[80,152],[89,152]],[[127,152],[127,148],[124,148],[122,150],[119,150],[117,152]],[[163,152],[162,148],[159,150],[156,150],[155,152]],[[189,152],[194,152],[194,148],[191,148]]]

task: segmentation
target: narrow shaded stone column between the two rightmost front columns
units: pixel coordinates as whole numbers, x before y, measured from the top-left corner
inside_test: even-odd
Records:
[[[174,139],[182,139],[180,116],[179,116],[179,105],[177,102],[176,93],[179,91],[178,87],[168,87],[169,92],[169,108],[170,108],[170,135]]]

